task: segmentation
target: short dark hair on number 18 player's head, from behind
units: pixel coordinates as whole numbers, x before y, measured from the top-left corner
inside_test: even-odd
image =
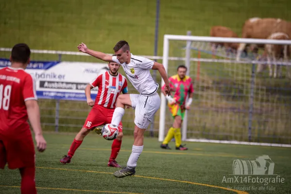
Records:
[[[30,57],[30,49],[27,44],[16,44],[11,51],[11,59],[13,62],[27,63]]]

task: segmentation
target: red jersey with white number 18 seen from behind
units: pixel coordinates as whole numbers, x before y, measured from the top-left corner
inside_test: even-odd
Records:
[[[0,131],[29,129],[25,101],[35,99],[35,83],[22,68],[0,69]]]

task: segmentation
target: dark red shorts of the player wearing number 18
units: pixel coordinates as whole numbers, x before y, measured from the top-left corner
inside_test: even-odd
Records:
[[[0,133],[0,168],[6,163],[10,169],[35,166],[34,142],[29,128],[13,135]]]

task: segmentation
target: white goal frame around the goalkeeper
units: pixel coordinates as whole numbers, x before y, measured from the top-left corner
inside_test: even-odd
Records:
[[[190,36],[190,35],[164,35],[164,43],[163,43],[163,65],[168,73],[168,61],[171,56],[169,56],[170,51],[170,41],[187,41],[186,44],[186,57],[185,65],[189,66],[190,61],[205,61],[205,62],[213,62],[213,61],[230,61],[232,63],[240,63],[240,64],[260,64],[262,62],[259,61],[239,61],[236,62],[234,60],[228,59],[197,59],[197,58],[190,58],[190,45],[191,42],[207,42],[207,43],[245,43],[245,44],[271,44],[271,45],[291,45],[291,40],[272,40],[272,39],[251,39],[251,38],[223,38],[223,37],[207,37],[207,36]],[[187,54],[188,53],[188,54]],[[282,65],[290,65],[290,63],[280,62]],[[169,75],[171,76],[171,75]],[[161,86],[164,84],[162,79]],[[158,141],[162,142],[165,137],[165,126],[166,126],[166,114],[167,114],[167,102],[165,96],[161,93],[161,106],[160,106],[160,117],[159,117],[159,134],[158,134]],[[195,107],[193,107],[195,108]],[[186,115],[187,117],[187,111]],[[187,118],[184,120],[182,127],[182,140],[183,141],[193,141],[193,142],[212,142],[212,143],[228,143],[228,144],[245,144],[245,145],[261,145],[261,146],[287,146],[291,147],[291,145],[287,144],[271,144],[271,143],[255,143],[255,142],[240,142],[240,141],[220,141],[220,140],[205,140],[205,139],[188,139],[187,138]],[[247,129],[246,129],[247,130]]]

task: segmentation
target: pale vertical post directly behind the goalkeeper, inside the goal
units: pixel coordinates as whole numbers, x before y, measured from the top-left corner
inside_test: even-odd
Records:
[[[191,31],[187,31],[187,35],[191,35]],[[190,56],[191,56],[191,41],[187,41],[186,43],[186,54],[185,54],[185,66],[188,68],[186,75],[190,74]],[[188,100],[188,95],[186,100]],[[184,120],[182,124],[182,141],[186,141],[187,139],[187,125],[188,125],[188,111],[185,111]]]

